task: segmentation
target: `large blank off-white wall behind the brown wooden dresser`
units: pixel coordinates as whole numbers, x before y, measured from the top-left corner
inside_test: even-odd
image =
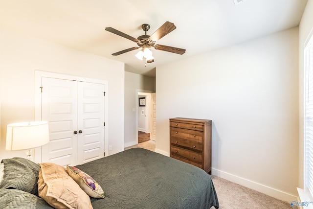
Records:
[[[169,118],[212,119],[212,174],[291,202],[298,184],[298,28],[156,69],[156,152]]]

